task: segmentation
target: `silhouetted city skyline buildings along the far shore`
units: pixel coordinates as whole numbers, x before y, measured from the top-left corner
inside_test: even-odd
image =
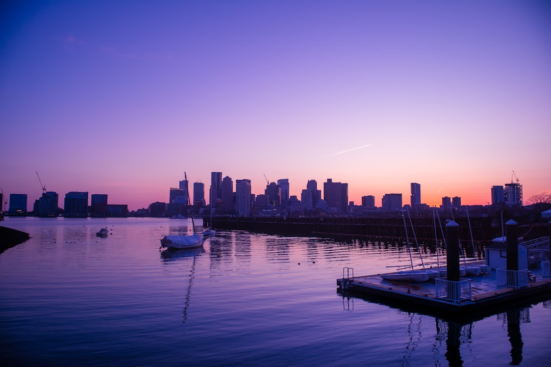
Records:
[[[410,183],[409,205],[403,204],[402,193],[387,193],[381,198],[381,206],[375,205],[374,195],[361,196],[361,205],[348,201],[348,183],[334,182],[328,178],[318,190],[316,180],[307,180],[306,188],[301,190],[300,199],[290,195],[289,179],[278,179],[269,182],[263,194],[251,193],[250,179],[222,177],[222,172],[212,172],[209,188],[209,203],[205,200],[205,188],[201,182],[193,183],[193,193],[188,192],[186,179],[180,180],[177,188],[169,188],[168,202],[153,202],[147,209],[132,212],[135,216],[152,217],[186,217],[191,210],[198,215],[211,211],[215,215],[229,216],[349,216],[364,215],[372,211],[427,210],[429,206],[422,203],[421,184]],[[131,213],[127,205],[108,204],[107,194],[92,194],[88,205],[87,191],[69,191],[63,201],[63,209],[58,206],[58,194],[46,191],[35,200],[33,211],[28,212],[26,194],[10,194],[9,210],[4,215],[34,215],[39,217],[124,217]],[[522,185],[516,182],[504,186],[494,185],[490,189],[491,205],[521,207],[523,205]],[[193,201],[191,202],[191,196]],[[2,201],[5,198],[2,197]],[[190,205],[190,202],[192,203]],[[488,202],[490,204],[490,202]],[[442,197],[441,210],[457,210],[462,207],[459,196]]]

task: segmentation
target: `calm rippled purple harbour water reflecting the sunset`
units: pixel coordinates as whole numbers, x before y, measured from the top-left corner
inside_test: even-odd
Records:
[[[3,365],[547,366],[551,358],[549,300],[456,323],[337,293],[343,267],[368,275],[409,262],[395,242],[219,231],[202,250],[161,254],[160,238],[191,222],[0,224],[32,237],[0,254]],[[95,235],[102,227],[107,238]]]

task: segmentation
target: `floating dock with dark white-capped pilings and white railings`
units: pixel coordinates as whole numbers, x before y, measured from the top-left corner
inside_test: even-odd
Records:
[[[518,249],[522,246],[518,245],[517,223],[511,220],[506,223],[506,248],[499,253],[500,257],[506,258],[507,266],[491,269],[489,264],[482,264],[482,262],[466,264],[478,266],[479,269],[477,275],[467,277],[460,277],[458,227],[454,221],[446,224],[446,277],[435,277],[425,282],[389,280],[388,277],[383,278],[384,274],[356,277],[352,268],[345,267],[342,278],[337,279],[339,291],[368,294],[393,303],[421,306],[453,314],[495,308],[541,294],[551,296],[551,261],[549,260],[551,222],[549,223],[550,236],[545,238],[547,249],[538,249],[542,258],[547,258],[540,262],[540,267],[523,269],[518,266],[519,263],[524,264],[522,256],[521,259],[518,256]],[[413,271],[413,273],[417,272],[418,275],[424,273],[423,280],[426,280],[428,278],[426,270],[429,269]],[[420,279],[411,276],[411,273],[398,272],[388,273],[388,275],[400,275],[396,278],[402,279]]]

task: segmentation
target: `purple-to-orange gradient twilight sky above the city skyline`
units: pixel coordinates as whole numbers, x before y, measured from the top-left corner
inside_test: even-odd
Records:
[[[551,193],[545,1],[4,1],[0,186],[166,202],[205,184]],[[516,176],[516,177],[515,177]],[[190,188],[191,189],[191,188]],[[8,204],[9,205],[9,204]]]

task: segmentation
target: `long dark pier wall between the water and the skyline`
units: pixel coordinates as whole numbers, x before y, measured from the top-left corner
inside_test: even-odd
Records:
[[[213,217],[213,227],[220,229],[241,229],[245,231],[278,233],[291,235],[352,235],[366,237],[406,237],[402,216],[386,217]],[[470,241],[490,241],[501,236],[501,227],[496,226],[490,217],[456,217],[460,224],[460,239]],[[469,226],[470,221],[470,226]],[[436,221],[437,237],[442,238],[440,225],[444,228],[447,220]],[[411,223],[406,218],[408,235],[413,231],[418,239],[435,238],[435,221],[432,216],[412,216]],[[209,225],[209,218],[204,218],[204,224]],[[413,230],[412,230],[413,227]],[[470,228],[470,229],[469,229]]]

